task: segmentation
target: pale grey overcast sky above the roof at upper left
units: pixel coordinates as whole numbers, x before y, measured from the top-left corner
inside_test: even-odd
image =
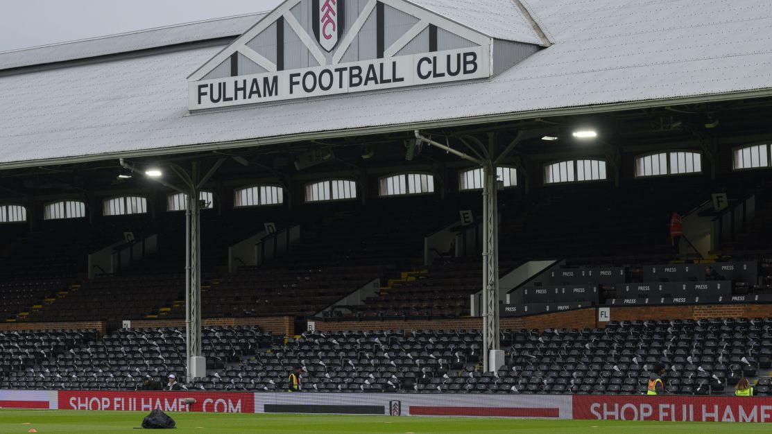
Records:
[[[0,51],[263,12],[281,0],[2,0]]]

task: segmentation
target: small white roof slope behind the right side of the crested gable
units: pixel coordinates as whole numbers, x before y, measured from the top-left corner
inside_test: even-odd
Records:
[[[408,0],[496,39],[544,45],[513,0]]]

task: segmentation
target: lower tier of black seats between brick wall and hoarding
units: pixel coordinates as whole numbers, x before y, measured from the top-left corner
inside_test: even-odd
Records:
[[[0,334],[3,388],[133,389],[183,370],[180,329]],[[506,363],[479,369],[479,331],[306,332],[276,341],[257,327],[205,327],[205,390],[280,391],[303,368],[303,392],[642,394],[652,365],[676,395],[725,395],[740,376],[770,394],[772,319],[612,321],[604,328],[502,330]],[[51,348],[45,354],[36,354]],[[764,375],[762,375],[764,373]],[[730,387],[727,387],[729,385]]]

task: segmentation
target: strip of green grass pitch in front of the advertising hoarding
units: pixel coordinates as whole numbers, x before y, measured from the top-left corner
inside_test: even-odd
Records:
[[[137,432],[145,412],[0,410],[0,432]],[[174,432],[770,432],[761,423],[625,422],[344,415],[169,413]]]

